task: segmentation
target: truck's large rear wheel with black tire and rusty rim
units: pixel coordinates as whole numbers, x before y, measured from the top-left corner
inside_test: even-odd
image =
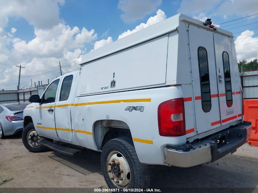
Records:
[[[149,167],[140,163],[131,138],[108,141],[102,150],[101,168],[109,188],[147,188],[150,184]]]

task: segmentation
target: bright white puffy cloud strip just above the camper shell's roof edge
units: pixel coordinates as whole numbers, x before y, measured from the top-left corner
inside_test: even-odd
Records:
[[[125,32],[123,32],[121,35],[118,36],[118,40],[121,39],[121,38],[124,38],[125,36],[128,36],[130,34],[133,34],[135,33],[136,31],[140,31],[146,27],[149,27],[155,23],[158,23],[160,21],[163,21],[166,19],[166,15],[165,13],[159,9],[157,12],[157,15],[153,16],[153,17],[150,17],[146,23],[141,23],[140,25],[136,26],[135,29],[133,30],[127,30]]]

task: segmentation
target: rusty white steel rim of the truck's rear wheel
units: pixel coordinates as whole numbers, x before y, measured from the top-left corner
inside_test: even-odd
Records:
[[[112,183],[118,188],[128,188],[131,182],[130,167],[118,151],[110,152],[107,156],[107,172]]]

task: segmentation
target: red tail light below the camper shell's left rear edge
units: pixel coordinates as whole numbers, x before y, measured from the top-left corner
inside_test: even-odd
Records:
[[[176,137],[186,134],[183,98],[158,105],[158,130],[160,136]]]

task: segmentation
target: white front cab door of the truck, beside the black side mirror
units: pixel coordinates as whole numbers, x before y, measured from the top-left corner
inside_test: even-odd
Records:
[[[42,95],[42,104],[35,103],[35,130],[39,136],[59,141],[55,126],[55,103],[60,79],[54,80]]]

